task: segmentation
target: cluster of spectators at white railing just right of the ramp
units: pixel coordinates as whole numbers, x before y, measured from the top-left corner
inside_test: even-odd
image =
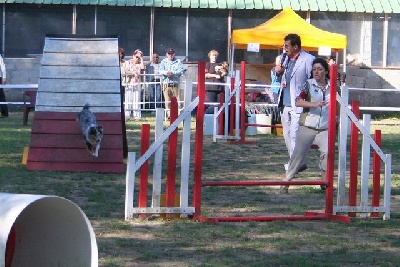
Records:
[[[180,77],[184,72],[183,63],[175,56],[173,48],[169,48],[166,52],[166,57],[160,61],[158,54],[153,54],[150,63],[144,64],[143,52],[139,49],[132,53],[132,58],[125,61],[125,52],[123,48],[119,49],[120,67],[122,82],[126,85],[125,91],[130,96],[129,110],[125,111],[125,119],[131,116],[135,120],[141,118],[140,102],[142,90],[140,90],[139,82],[142,74],[145,74],[145,81],[150,84],[149,101],[150,108],[162,107],[162,95],[167,109],[166,118],[169,120],[169,108],[171,97],[176,97],[179,103],[179,82]],[[162,88],[161,88],[162,86]],[[124,102],[124,101],[123,101]]]

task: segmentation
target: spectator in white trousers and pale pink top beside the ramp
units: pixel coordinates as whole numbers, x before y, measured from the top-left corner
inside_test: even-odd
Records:
[[[132,59],[125,62],[125,74],[127,74],[127,95],[130,97],[126,97],[126,101],[129,102],[128,105],[132,107],[132,116],[135,120],[139,120],[141,118],[141,110],[140,110],[140,74],[144,70],[144,62],[143,62],[143,53],[139,49],[136,49],[132,54]],[[130,117],[130,113],[128,116]],[[125,112],[125,118],[127,114]]]

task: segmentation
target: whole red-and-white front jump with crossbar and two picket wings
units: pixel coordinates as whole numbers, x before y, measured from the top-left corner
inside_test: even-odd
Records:
[[[184,109],[184,111],[181,113],[181,115],[171,124],[170,128],[167,128],[161,135],[160,138],[158,138],[150,147],[148,150],[144,149],[142,151],[142,157],[139,158],[137,161],[133,158],[133,160],[130,160],[128,163],[128,171],[127,171],[127,187],[126,187],[126,204],[125,204],[125,218],[130,219],[133,218],[135,214],[140,215],[141,217],[144,217],[145,214],[149,213],[180,213],[182,217],[185,216],[193,216],[193,220],[196,221],[201,221],[201,222],[213,222],[213,223],[218,223],[218,222],[238,222],[238,221],[275,221],[275,220],[338,220],[341,222],[350,222],[350,216],[352,216],[351,213],[360,213],[362,214],[363,217],[366,217],[368,213],[371,213],[372,217],[377,216],[377,213],[384,213],[383,219],[389,219],[390,218],[390,185],[391,185],[391,157],[390,155],[384,155],[382,151],[380,150],[378,144],[375,143],[375,141],[369,136],[368,130],[366,130],[366,127],[360,125],[358,122],[358,119],[354,117],[354,114],[351,111],[346,111],[345,109],[347,108],[347,102],[343,97],[343,92],[342,92],[342,97],[339,96],[336,93],[336,82],[331,83],[332,84],[332,93],[331,93],[331,98],[330,98],[330,111],[329,111],[329,128],[328,128],[328,147],[329,147],[329,153],[328,153],[328,166],[327,166],[327,181],[323,180],[307,180],[307,181],[203,181],[202,180],[202,175],[201,175],[201,170],[202,170],[202,146],[203,146],[203,122],[204,122],[204,96],[205,96],[205,83],[204,83],[204,73],[201,72],[201,70],[204,69],[204,67],[199,63],[199,74],[198,74],[198,96],[197,98],[190,103],[190,105],[187,106],[188,109]],[[337,73],[337,66],[333,66],[331,68],[331,77],[336,77],[335,73]],[[342,89],[343,90],[343,89]],[[346,183],[345,177],[341,176],[340,173],[343,172],[343,169],[339,168],[339,179],[338,179],[338,204],[337,206],[334,206],[334,195],[333,195],[333,184],[334,184],[334,163],[335,163],[335,139],[336,139],[336,101],[341,104],[341,114],[346,114],[347,117],[351,119],[351,121],[359,127],[360,131],[363,133],[365,136],[365,140],[367,140],[364,146],[372,146],[374,150],[376,151],[376,154],[379,155],[379,157],[385,162],[385,190],[384,190],[384,201],[383,205],[379,206],[379,195],[376,192],[379,192],[377,190],[377,187],[380,183],[379,178],[379,173],[380,169],[377,167],[377,165],[374,165],[374,200],[371,205],[368,204],[368,196],[365,197],[365,194],[368,193],[368,190],[362,189],[362,194],[363,196],[361,197],[362,201],[359,206],[356,206],[355,203],[349,202],[348,207],[343,206],[343,198],[344,192],[346,190]],[[174,105],[173,105],[174,106]],[[175,105],[177,109],[177,105]],[[152,196],[152,204],[151,207],[147,207],[146,203],[148,202],[147,196],[144,197],[144,195],[140,196],[139,192],[139,198],[143,198],[140,200],[140,204],[138,205],[137,208],[133,207],[133,199],[134,199],[134,177],[135,177],[135,172],[139,171],[141,172],[141,179],[140,179],[140,187],[143,186],[143,190],[147,191],[147,176],[145,166],[145,162],[148,161],[150,155],[152,153],[155,153],[155,150],[161,148],[161,143],[165,141],[169,136],[176,131],[177,125],[182,122],[185,118],[187,119],[188,113],[190,112],[189,110],[193,110],[197,106],[197,113],[196,113],[196,147],[195,147],[195,155],[194,155],[194,171],[193,171],[193,176],[194,176],[194,186],[193,186],[193,204],[192,206],[189,207],[188,205],[188,177],[189,177],[189,165],[187,162],[185,162],[183,159],[181,159],[181,164],[182,164],[182,171],[181,173],[181,179],[183,182],[181,182],[181,185],[184,185],[185,188],[182,188],[181,186],[181,193],[180,193],[180,204],[175,205],[175,188],[174,187],[174,181],[175,181],[175,174],[168,174],[167,176],[167,183],[172,182],[172,186],[167,185],[167,200],[166,200],[166,207],[160,207],[158,199],[160,198],[160,191],[157,189],[154,191],[154,188],[161,188],[161,179],[156,179],[153,178],[153,196]],[[348,108],[347,108],[348,109]],[[162,119],[162,117],[160,116]],[[162,121],[160,119],[160,122]],[[346,119],[342,118],[341,122],[345,124]],[[162,122],[161,122],[162,123]],[[157,125],[159,124],[158,119],[157,119]],[[184,131],[187,130],[187,125],[188,123],[185,123],[184,125]],[[342,124],[340,125],[340,138],[339,138],[339,147],[345,147],[345,139],[347,139],[347,136],[343,137],[344,129]],[[157,127],[157,126],[156,126]],[[146,130],[148,131],[148,130]],[[156,135],[159,130],[156,129]],[[345,132],[346,133],[346,132]],[[144,134],[143,136],[145,136]],[[378,134],[377,134],[378,135]],[[147,134],[148,136],[148,134]],[[170,137],[170,142],[172,137]],[[377,139],[378,141],[378,139]],[[379,141],[378,141],[379,142]],[[173,143],[176,146],[175,141]],[[182,148],[183,149],[183,148]],[[183,150],[182,150],[183,151]],[[342,153],[342,154],[340,154]],[[343,163],[343,156],[346,154],[346,151],[341,151],[339,152],[339,165],[345,165]],[[183,153],[182,153],[183,154]],[[365,153],[367,155],[367,153]],[[172,156],[169,155],[169,157]],[[187,154],[186,154],[187,156]],[[189,157],[187,157],[189,158]],[[365,158],[365,159],[364,159]],[[368,160],[367,157],[365,156],[363,158],[363,161]],[[170,160],[170,158],[168,159]],[[357,159],[358,160],[358,159]],[[162,166],[160,164],[160,159],[155,159],[155,164],[154,164],[154,175],[157,173],[161,173]],[[175,162],[176,163],[176,162]],[[363,163],[364,164],[364,163]],[[344,168],[345,169],[345,168]],[[174,166],[168,166],[168,172],[170,171],[176,171],[176,168]],[[142,175],[142,172],[144,174]],[[184,173],[185,172],[185,173]],[[366,172],[366,171],[364,171]],[[367,172],[366,172],[367,173]],[[161,177],[161,174],[157,174],[159,177]],[[173,178],[169,178],[173,177]],[[367,177],[367,175],[365,175]],[[366,178],[362,178],[365,181],[362,182],[364,186],[362,185],[362,188],[368,189],[368,180]],[[378,178],[377,178],[378,177]],[[368,177],[367,177],[368,178]],[[171,179],[171,180],[169,180]],[[378,185],[377,185],[378,184]],[[203,216],[201,213],[201,207],[202,207],[202,202],[201,202],[201,194],[202,194],[202,188],[203,187],[211,187],[211,186],[279,186],[279,185],[327,185],[327,190],[325,192],[325,210],[322,213],[315,213],[315,212],[305,212],[304,215],[278,215],[278,216],[237,216],[237,217],[206,217]],[[354,185],[352,185],[354,186]],[[140,189],[141,190],[141,189]],[[364,190],[364,191],[363,191]],[[144,194],[144,193],[143,193]],[[357,192],[354,192],[354,190],[350,191],[350,199],[355,199],[357,198]],[[341,199],[339,201],[339,199]],[[353,201],[353,200],[351,200]],[[350,213],[351,212],[351,213]],[[345,213],[345,214],[344,214]],[[350,213],[350,214],[346,214]]]

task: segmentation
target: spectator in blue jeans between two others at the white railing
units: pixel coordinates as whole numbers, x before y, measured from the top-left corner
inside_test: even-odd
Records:
[[[159,58],[158,54],[153,54],[151,62],[146,65],[146,81],[151,82],[150,109],[162,107]]]

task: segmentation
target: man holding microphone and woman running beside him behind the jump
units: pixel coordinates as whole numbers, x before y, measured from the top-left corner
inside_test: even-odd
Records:
[[[283,136],[289,155],[284,165],[284,180],[290,181],[307,169],[307,153],[314,143],[320,151],[321,178],[326,181],[328,153],[328,108],[330,98],[329,65],[325,58],[316,58],[301,48],[301,38],[288,34],[282,55],[272,70]],[[289,186],[281,186],[282,193]],[[326,185],[321,185],[325,190]]]

